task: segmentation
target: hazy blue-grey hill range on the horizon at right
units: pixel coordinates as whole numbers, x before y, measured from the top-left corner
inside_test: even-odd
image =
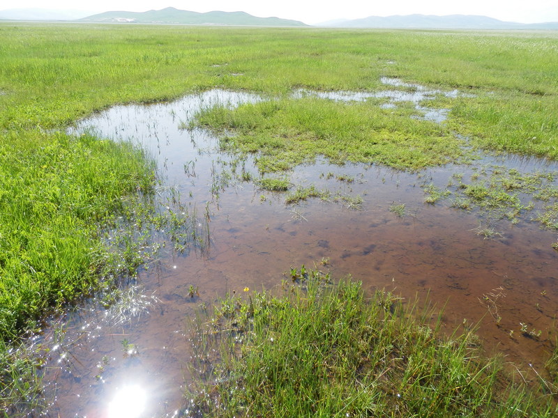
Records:
[[[369,16],[355,20],[331,20],[316,26],[386,29],[558,29],[558,22],[522,24],[474,15],[396,15]]]

